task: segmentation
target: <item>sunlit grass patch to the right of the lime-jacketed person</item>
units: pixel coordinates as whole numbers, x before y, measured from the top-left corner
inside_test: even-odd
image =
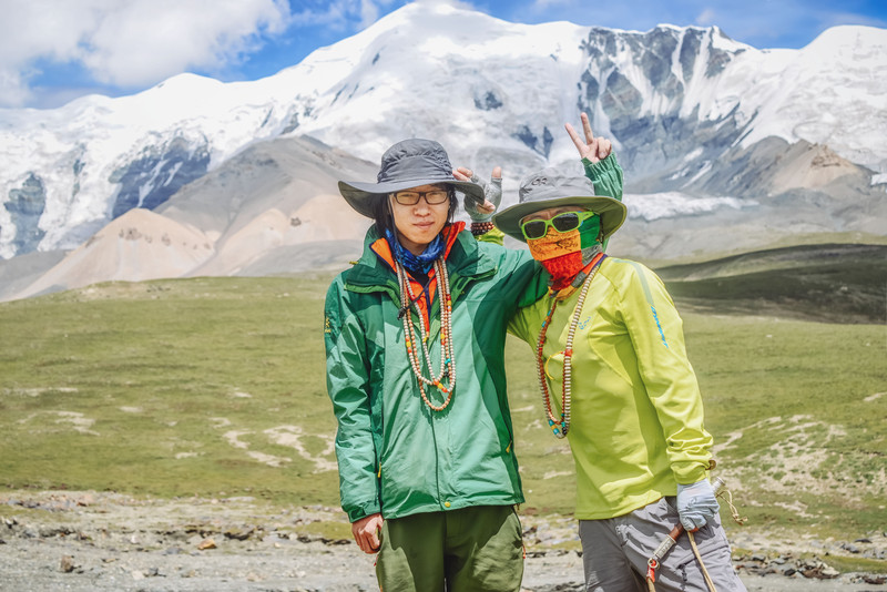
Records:
[[[826,534],[883,524],[887,370],[883,325],[686,315],[722,472],[758,524]],[[880,394],[880,395],[878,395]],[[735,438],[731,438],[735,433]]]

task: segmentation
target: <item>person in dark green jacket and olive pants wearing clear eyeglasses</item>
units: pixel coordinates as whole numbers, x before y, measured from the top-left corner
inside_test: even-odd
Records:
[[[621,194],[614,160],[594,172]],[[546,294],[547,275],[527,252],[472,236],[492,234],[483,190],[453,176],[437,142],[399,142],[376,183],[339,191],[375,222],[325,304],[339,490],[355,541],[378,551],[386,592],[519,590],[513,507],[523,494],[504,343],[519,307]],[[457,191],[472,233],[453,222]]]

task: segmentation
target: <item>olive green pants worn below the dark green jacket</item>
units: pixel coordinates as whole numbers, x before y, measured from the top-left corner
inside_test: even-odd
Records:
[[[516,592],[523,538],[511,506],[386,520],[376,574],[383,592]]]

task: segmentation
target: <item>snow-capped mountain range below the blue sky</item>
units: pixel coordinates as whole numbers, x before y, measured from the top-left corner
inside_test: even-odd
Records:
[[[263,80],[183,74],[132,96],[0,110],[0,257],[72,248],[288,135],[371,162],[398,140],[432,137],[456,165],[503,165],[513,187],[574,162],[563,123],[581,111],[614,141],[629,191],[671,192],[671,206],[636,202],[644,220],[846,174],[870,187],[887,182],[887,30],[837,27],[802,50],[758,50],[716,27],[523,25],[408,4]],[[805,173],[777,174],[783,161]]]

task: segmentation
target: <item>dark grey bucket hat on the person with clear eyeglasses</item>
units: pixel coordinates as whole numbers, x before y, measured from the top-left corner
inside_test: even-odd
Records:
[[[375,217],[373,202],[376,197],[434,183],[447,183],[483,202],[483,188],[476,183],[457,181],[447,151],[434,140],[404,140],[389,147],[381,155],[376,181],[339,181],[339,192],[348,205],[370,218]]]

